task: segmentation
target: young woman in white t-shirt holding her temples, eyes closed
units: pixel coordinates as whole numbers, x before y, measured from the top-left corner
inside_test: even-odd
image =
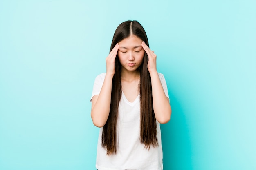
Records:
[[[171,117],[164,76],[137,21],[121,23],[92,92],[91,117],[100,127],[98,170],[162,170],[160,124]]]

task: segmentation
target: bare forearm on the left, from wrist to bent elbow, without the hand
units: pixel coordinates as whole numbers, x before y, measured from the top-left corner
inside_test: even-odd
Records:
[[[103,127],[108,120],[111,101],[112,75],[106,75],[101,92],[92,98],[91,117],[93,124]]]

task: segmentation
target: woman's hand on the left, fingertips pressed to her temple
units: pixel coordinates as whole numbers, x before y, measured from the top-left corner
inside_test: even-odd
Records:
[[[117,56],[117,51],[119,49],[118,43],[114,46],[114,48],[110,51],[108,57],[106,57],[106,74],[114,75],[115,74],[115,58]]]

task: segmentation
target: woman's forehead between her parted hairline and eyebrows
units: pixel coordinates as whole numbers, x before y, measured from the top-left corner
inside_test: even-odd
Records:
[[[142,40],[135,35],[131,35],[128,38],[121,40],[119,48],[134,48],[135,46],[141,46]]]

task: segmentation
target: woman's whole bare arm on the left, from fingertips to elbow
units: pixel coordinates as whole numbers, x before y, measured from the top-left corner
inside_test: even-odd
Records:
[[[103,127],[108,120],[111,101],[112,79],[115,74],[115,57],[117,55],[118,49],[119,45],[117,44],[109,53],[108,57],[106,57],[107,71],[106,77],[101,87],[101,92],[99,95],[94,95],[92,97],[91,117],[93,124],[97,127]]]

